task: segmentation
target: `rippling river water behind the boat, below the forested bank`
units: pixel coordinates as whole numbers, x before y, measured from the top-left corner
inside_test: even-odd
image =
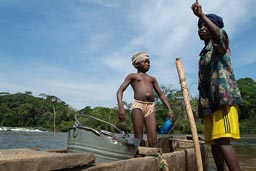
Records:
[[[256,135],[242,136],[233,143],[242,171],[256,170]],[[0,149],[32,148],[38,150],[66,149],[67,133],[0,131]],[[210,148],[209,148],[210,149]],[[208,171],[215,171],[209,150]]]

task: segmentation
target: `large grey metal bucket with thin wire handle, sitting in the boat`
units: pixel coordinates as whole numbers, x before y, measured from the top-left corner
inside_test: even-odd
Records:
[[[89,115],[84,116],[100,120]],[[75,123],[73,128],[70,128],[68,131],[67,150],[69,152],[93,153],[96,156],[95,163],[112,162],[135,157],[139,146],[138,139],[130,138],[128,134],[125,134],[115,126],[120,134],[81,126],[77,119]],[[113,126],[112,124],[110,125]]]

